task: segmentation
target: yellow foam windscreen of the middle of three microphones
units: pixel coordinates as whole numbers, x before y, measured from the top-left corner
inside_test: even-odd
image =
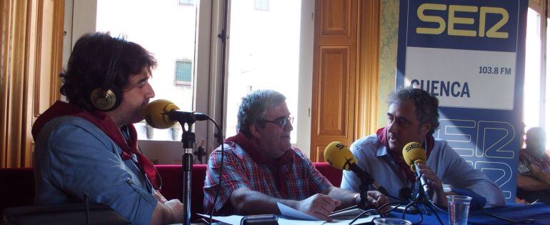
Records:
[[[355,159],[354,154],[351,154],[348,146],[341,144],[339,141],[332,141],[331,144],[326,146],[323,156],[336,169],[349,171],[349,164],[357,163],[357,159]]]

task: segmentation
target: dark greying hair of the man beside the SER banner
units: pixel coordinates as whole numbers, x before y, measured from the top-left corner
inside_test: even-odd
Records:
[[[437,111],[439,100],[436,96],[422,89],[414,89],[409,86],[392,92],[388,97],[387,103],[389,105],[401,104],[409,100],[412,100],[414,103],[416,119],[421,124],[429,122],[432,125],[429,134],[434,134],[434,131],[439,129],[439,111]]]

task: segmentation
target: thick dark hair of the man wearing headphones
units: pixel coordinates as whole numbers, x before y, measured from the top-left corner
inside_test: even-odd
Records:
[[[156,59],[139,44],[111,37],[109,33],[84,34],[74,45],[67,69],[59,74],[63,82],[61,94],[69,103],[94,111],[91,91],[104,85],[111,64],[116,66],[112,85],[123,91],[129,86],[131,75],[141,73],[144,68],[151,73]]]

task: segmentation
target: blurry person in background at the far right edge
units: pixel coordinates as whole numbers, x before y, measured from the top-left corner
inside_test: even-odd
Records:
[[[550,159],[546,154],[546,132],[540,127],[525,135],[526,148],[519,151],[516,196],[529,203],[550,205]]]

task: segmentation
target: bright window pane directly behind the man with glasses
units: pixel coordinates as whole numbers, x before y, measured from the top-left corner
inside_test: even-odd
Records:
[[[269,1],[254,2],[256,9],[259,3],[269,8]],[[298,129],[302,129],[297,123],[307,120],[298,116],[300,23],[296,21],[301,19],[301,2],[274,1],[271,9],[256,14],[246,1],[231,2],[229,46],[239,51],[229,51],[226,136],[236,134],[242,97],[258,89],[274,89],[286,96],[294,116],[291,142],[296,144]],[[306,146],[300,148],[309,151]]]

